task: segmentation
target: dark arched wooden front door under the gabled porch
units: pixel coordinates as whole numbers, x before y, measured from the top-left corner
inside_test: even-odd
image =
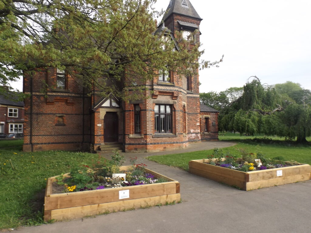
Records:
[[[106,112],[104,117],[104,142],[118,142],[118,114]]]

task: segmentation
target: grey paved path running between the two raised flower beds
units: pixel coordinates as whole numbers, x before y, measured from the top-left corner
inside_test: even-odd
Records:
[[[21,233],[310,233],[311,180],[243,191],[143,158],[155,154],[198,151],[232,145],[234,143],[212,141],[192,144],[183,150],[125,153],[126,158],[137,156],[147,164],[149,169],[178,180],[181,183],[182,203],[22,227],[16,231]]]

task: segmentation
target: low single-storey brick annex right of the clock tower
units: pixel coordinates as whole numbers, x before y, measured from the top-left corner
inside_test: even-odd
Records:
[[[220,111],[200,103],[201,140],[218,140]]]

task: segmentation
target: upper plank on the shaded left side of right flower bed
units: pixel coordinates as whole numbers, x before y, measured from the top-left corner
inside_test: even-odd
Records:
[[[193,160],[189,161],[189,172],[193,173],[194,170],[206,171],[206,172],[213,173],[215,175],[227,177],[228,179],[234,179],[234,180],[239,180],[243,182],[246,179],[245,178],[246,172],[243,172],[243,171],[236,171],[233,169],[228,169],[225,167],[218,167],[215,165],[197,162]]]

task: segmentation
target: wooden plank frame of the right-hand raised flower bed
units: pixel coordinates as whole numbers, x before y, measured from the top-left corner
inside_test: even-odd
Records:
[[[244,172],[207,164],[203,159],[198,159],[189,161],[189,172],[249,191],[310,180],[311,166],[303,163],[294,164],[296,165],[290,167]]]

